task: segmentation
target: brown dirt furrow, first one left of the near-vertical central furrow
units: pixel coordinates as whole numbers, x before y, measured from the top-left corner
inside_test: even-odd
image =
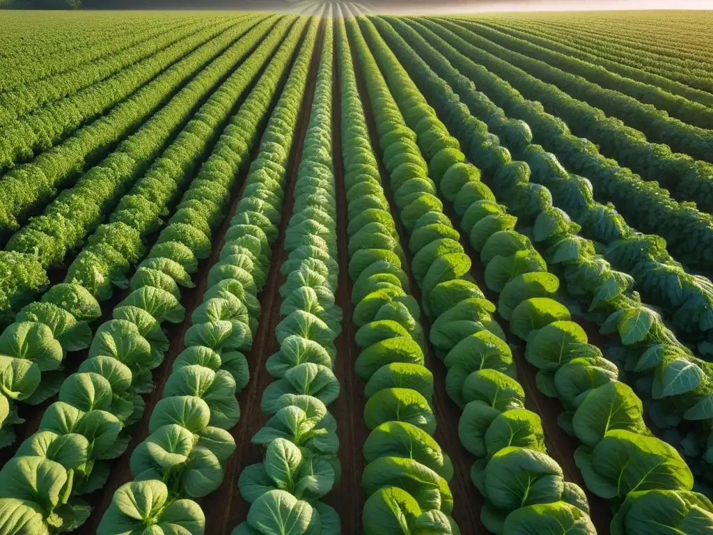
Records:
[[[252,444],[250,439],[265,425],[266,418],[265,414],[262,414],[260,410],[260,401],[265,387],[274,380],[265,370],[265,361],[279,349],[275,338],[275,327],[281,319],[279,316],[279,287],[284,282],[284,276],[279,270],[287,258],[287,252],[284,250],[284,228],[292,216],[294,183],[297,180],[302,146],[304,146],[304,136],[307,133],[309,112],[312,108],[323,37],[324,23],[320,26],[319,35],[317,36],[307,90],[302,103],[302,116],[298,120],[298,131],[292,146],[279,237],[272,253],[267,283],[260,296],[262,317],[255,333],[252,350],[247,355],[247,362],[250,366],[250,383],[238,395],[238,403],[240,404],[242,415],[240,422],[231,430],[231,434],[235,438],[235,444],[237,444],[237,450],[225,465],[225,478],[222,484],[210,496],[200,500],[200,505],[205,512],[206,518],[205,533],[211,535],[227,535],[237,524],[245,520],[250,504],[240,496],[237,488],[237,478],[245,467],[262,461],[261,448]],[[217,242],[217,245],[222,244]],[[217,499],[218,496],[219,498]]]

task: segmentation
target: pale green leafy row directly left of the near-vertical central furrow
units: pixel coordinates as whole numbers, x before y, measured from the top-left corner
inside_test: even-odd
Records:
[[[240,495],[250,509],[245,521],[232,531],[234,535],[342,531],[337,511],[322,502],[342,472],[337,459],[337,421],[329,413],[329,405],[339,396],[332,368],[338,358],[334,340],[342,322],[342,310],[334,302],[339,266],[332,162],[332,48],[332,27],[326,24],[292,190],[292,216],[284,231],[287,258],[280,266],[284,275],[279,287],[281,320],[275,327],[279,350],[265,362],[275,380],[262,392],[260,402],[267,422],[252,437],[264,457],[245,467],[238,479]],[[305,61],[305,79],[308,70]],[[267,209],[279,213],[281,206]]]

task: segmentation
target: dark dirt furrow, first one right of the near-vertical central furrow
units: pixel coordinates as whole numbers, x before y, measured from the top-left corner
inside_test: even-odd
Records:
[[[359,59],[354,53],[352,46],[352,61],[354,62],[354,70],[356,71],[356,84],[359,86],[359,95],[364,103],[364,111],[366,113],[366,122],[369,125],[369,134],[371,136],[371,144],[374,146],[374,151],[377,153],[379,161],[379,172],[381,173],[381,183],[384,185],[384,193],[391,213],[394,215],[396,222],[396,230],[399,232],[399,238],[402,244],[408,244],[409,238],[406,230],[401,225],[401,220],[398,217],[398,210],[394,205],[394,199],[391,195],[391,189],[388,187],[388,174],[381,161],[381,148],[379,145],[379,136],[376,133],[376,123],[374,122],[374,111],[371,108],[369,94],[366,91],[364,78],[359,68]],[[414,274],[411,272],[411,258],[408,253],[408,248],[404,248],[406,253],[406,265],[404,270],[409,275],[411,285],[411,293],[416,297],[416,300],[421,302],[419,286],[416,284]],[[424,329],[424,336],[429,340],[429,320],[426,314],[421,310],[421,326]],[[463,533],[487,533],[480,521],[481,507],[483,506],[483,496],[478,493],[476,487],[471,482],[471,464],[476,460],[461,444],[458,439],[458,420],[461,417],[461,409],[451,401],[446,394],[446,367],[443,362],[436,358],[433,348],[430,344],[427,347],[427,365],[429,370],[434,374],[434,412],[436,414],[436,434],[434,438],[440,444],[443,452],[451,456],[453,462],[453,479],[449,486],[453,493],[453,518],[456,519],[458,526],[461,527]]]

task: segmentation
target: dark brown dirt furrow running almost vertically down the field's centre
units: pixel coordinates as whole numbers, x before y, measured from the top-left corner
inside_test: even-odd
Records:
[[[336,20],[333,21],[337,35]],[[332,66],[332,154],[334,179],[337,186],[337,250],[339,251],[339,282],[337,305],[342,308],[342,334],[334,342],[337,345],[337,362],[334,373],[342,391],[329,409],[337,419],[339,434],[339,462],[342,464],[342,479],[325,496],[325,503],[339,511],[344,534],[361,531],[361,509],[364,508],[364,492],[361,490],[361,474],[364,472],[364,441],[369,434],[364,424],[364,382],[356,377],[354,362],[359,348],[354,341],[352,322],[352,281],[349,279],[349,252],[347,250],[347,197],[344,190],[344,165],[342,163],[342,93],[337,69],[337,54]]]

